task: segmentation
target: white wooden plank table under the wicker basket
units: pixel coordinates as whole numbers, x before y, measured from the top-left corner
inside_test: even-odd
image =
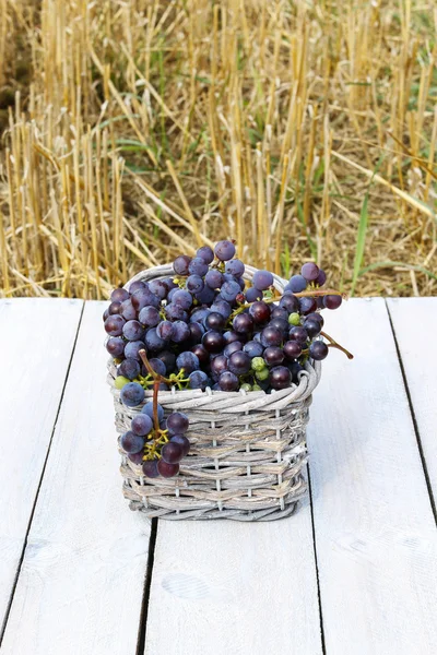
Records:
[[[310,497],[153,522],[121,495],[105,303],[0,300],[0,655],[436,655],[437,298],[327,330]]]

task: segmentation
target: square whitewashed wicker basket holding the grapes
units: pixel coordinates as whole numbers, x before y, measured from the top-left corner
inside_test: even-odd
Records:
[[[245,278],[256,269],[246,266]],[[143,271],[144,282],[173,274],[170,265]],[[283,290],[284,281],[274,276]],[[116,369],[109,361],[108,382],[114,394],[119,433],[141,407],[129,408],[114,386]],[[190,453],[174,478],[150,479],[141,466],[121,451],[123,495],[132,510],[161,519],[234,519],[272,521],[293,514],[306,492],[306,424],[312,390],[320,380],[320,362],[307,362],[299,384],[274,393],[186,390],[160,392],[167,414],[181,410],[189,416]],[[152,392],[145,393],[145,402]]]

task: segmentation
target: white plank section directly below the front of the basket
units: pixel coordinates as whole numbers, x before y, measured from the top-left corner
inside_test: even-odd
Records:
[[[321,653],[308,500],[291,519],[158,522],[146,655]]]

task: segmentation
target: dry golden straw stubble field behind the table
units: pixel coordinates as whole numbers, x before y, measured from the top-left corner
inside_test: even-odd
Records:
[[[232,237],[437,289],[434,0],[0,0],[0,294],[106,298]]]

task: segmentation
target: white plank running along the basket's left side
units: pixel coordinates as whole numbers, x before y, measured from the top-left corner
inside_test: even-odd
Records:
[[[103,347],[87,302],[1,655],[134,655],[150,522],[121,493]]]

